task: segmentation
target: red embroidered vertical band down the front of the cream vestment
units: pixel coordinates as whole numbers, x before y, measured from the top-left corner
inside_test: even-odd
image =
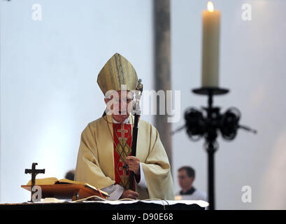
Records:
[[[131,155],[132,125],[113,123],[113,148],[115,183],[124,189],[129,189],[129,174],[124,168],[127,156]],[[135,190],[135,183],[133,184]]]

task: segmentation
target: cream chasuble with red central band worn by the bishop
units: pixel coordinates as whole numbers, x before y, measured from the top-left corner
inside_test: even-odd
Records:
[[[128,188],[130,172],[127,174],[123,166],[125,158],[131,155],[130,132],[134,116],[129,116],[129,124],[113,124],[111,116],[104,116],[85,127],[80,139],[75,181],[100,189],[113,184]],[[141,162],[147,184],[147,189],[134,184],[139,199],[173,200],[170,164],[159,133],[141,119],[138,122],[136,158]]]

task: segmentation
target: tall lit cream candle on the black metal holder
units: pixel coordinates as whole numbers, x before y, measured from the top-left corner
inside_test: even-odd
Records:
[[[208,1],[208,10],[203,10],[202,17],[202,87],[219,87],[220,11]]]

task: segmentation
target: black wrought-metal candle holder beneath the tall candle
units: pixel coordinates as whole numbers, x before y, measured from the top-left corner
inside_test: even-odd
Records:
[[[192,90],[195,94],[208,96],[208,106],[200,111],[189,108],[185,111],[185,125],[175,132],[187,129],[187,134],[193,141],[202,137],[205,139],[204,147],[208,153],[208,202],[209,210],[215,209],[215,151],[217,151],[217,135],[220,132],[223,139],[233,140],[238,128],[257,133],[250,127],[239,125],[241,113],[238,109],[231,107],[226,112],[220,113],[220,107],[213,106],[213,96],[227,94],[228,89],[220,87],[201,87]],[[173,132],[173,133],[175,133]]]

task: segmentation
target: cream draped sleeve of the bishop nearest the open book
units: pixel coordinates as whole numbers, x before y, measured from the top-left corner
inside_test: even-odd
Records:
[[[75,181],[89,183],[99,189],[115,183],[110,177],[105,176],[100,169],[96,139],[90,125],[87,125],[81,134]]]

